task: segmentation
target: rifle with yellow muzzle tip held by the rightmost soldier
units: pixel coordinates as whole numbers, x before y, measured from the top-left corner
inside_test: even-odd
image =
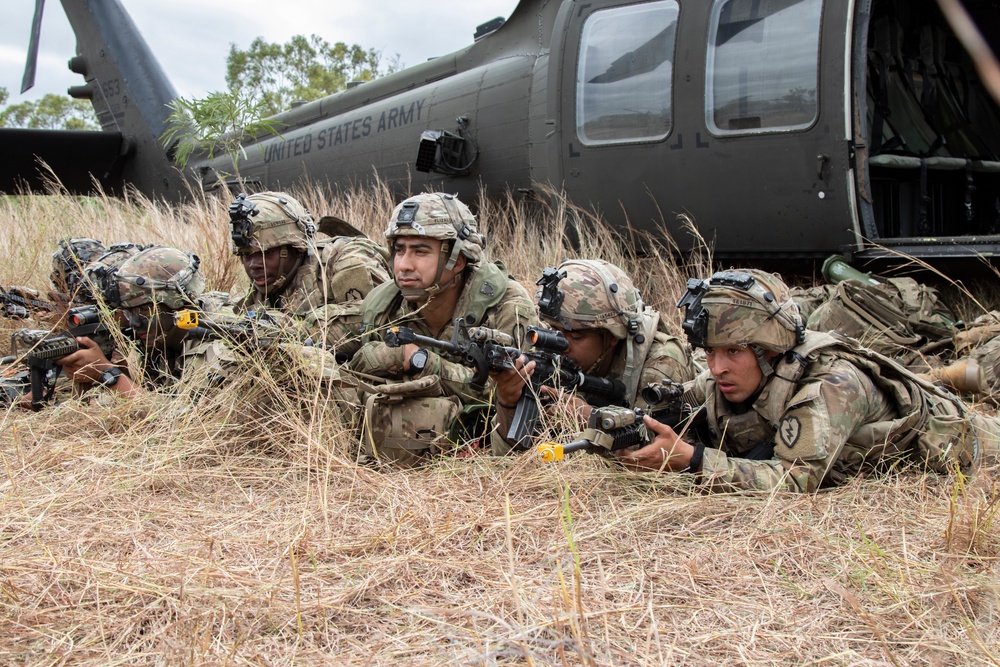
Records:
[[[704,410],[693,408],[684,401],[683,385],[669,379],[654,382],[642,389],[642,398],[649,404],[648,410],[617,406],[595,408],[587,420],[587,429],[577,440],[565,445],[543,442],[538,445],[538,457],[552,463],[581,449],[591,454],[610,454],[645,445],[650,441],[649,429],[642,419],[647,414],[671,428],[680,429],[678,435],[682,437],[694,429],[696,437],[700,438],[705,425]]]

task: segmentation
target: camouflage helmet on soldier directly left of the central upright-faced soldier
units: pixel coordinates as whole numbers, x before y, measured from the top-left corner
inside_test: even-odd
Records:
[[[284,192],[238,195],[229,205],[233,253],[290,245],[308,251],[316,235],[312,214]]]

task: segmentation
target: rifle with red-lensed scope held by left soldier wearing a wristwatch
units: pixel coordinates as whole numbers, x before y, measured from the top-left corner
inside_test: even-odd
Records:
[[[105,356],[111,356],[114,351],[112,329],[102,321],[97,306],[71,308],[66,313],[66,319],[69,326],[63,332],[20,329],[11,334],[10,358],[15,361],[23,359],[28,366],[32,410],[41,409],[52,398],[60,368],[56,360],[80,349],[77,336],[93,340]]]

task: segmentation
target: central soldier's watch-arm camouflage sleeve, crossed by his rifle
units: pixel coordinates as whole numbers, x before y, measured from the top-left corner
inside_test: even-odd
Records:
[[[504,298],[494,308],[487,312],[481,326],[497,329],[510,334],[517,347],[524,349],[527,344],[525,332],[529,326],[538,324],[535,315],[535,304],[528,291],[514,280],[508,281]],[[475,371],[454,361],[443,359],[439,354],[428,350],[425,373],[440,375],[445,389],[462,399],[463,402],[488,403],[492,392],[492,381],[478,391],[470,384]]]

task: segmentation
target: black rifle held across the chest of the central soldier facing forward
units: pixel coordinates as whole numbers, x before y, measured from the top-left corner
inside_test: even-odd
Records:
[[[482,391],[486,387],[490,371],[514,370],[514,362],[521,356],[519,348],[512,347],[514,338],[496,329],[469,327],[462,318],[455,319],[451,340],[438,340],[421,336],[409,327],[391,327],[385,335],[389,347],[402,347],[415,343],[440,351],[441,356],[472,368],[475,373],[470,384]]]

